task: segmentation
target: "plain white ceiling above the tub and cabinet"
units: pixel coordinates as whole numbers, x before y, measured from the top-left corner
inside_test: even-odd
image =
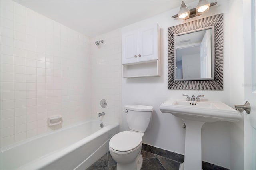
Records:
[[[15,2],[89,37],[144,20],[181,4],[181,0],[16,0]],[[190,1],[185,1],[188,2]]]

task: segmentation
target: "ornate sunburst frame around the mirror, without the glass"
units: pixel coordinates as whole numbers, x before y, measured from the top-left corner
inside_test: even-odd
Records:
[[[176,36],[193,30],[212,29],[212,76],[199,79],[176,77]],[[214,41],[215,40],[215,41]],[[187,22],[168,29],[168,89],[223,90],[223,14]]]

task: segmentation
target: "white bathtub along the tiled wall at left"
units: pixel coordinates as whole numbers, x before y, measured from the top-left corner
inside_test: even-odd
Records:
[[[118,123],[86,121],[18,142],[0,152],[1,170],[85,170],[108,152]]]

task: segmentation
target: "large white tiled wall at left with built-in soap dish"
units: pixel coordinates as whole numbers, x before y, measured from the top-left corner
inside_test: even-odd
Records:
[[[1,147],[90,118],[90,39],[12,1],[0,24]]]

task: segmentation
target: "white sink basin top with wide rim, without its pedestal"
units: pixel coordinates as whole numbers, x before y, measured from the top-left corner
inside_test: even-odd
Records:
[[[162,103],[159,108],[163,113],[172,113],[182,119],[200,122],[238,122],[242,118],[235,109],[222,102],[169,99]]]

